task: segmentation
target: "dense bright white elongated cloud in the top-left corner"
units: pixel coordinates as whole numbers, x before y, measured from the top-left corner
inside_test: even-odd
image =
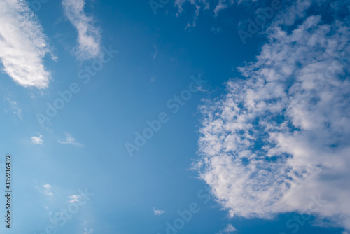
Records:
[[[3,70],[24,86],[47,88],[51,74],[43,65],[46,36],[26,1],[0,1],[0,58]]]

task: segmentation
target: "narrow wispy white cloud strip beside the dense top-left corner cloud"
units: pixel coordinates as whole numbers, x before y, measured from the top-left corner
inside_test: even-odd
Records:
[[[85,0],[63,0],[64,14],[78,31],[76,53],[81,60],[101,55],[101,29],[84,11]]]

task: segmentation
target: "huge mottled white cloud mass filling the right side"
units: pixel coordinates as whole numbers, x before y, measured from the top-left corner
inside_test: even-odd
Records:
[[[195,166],[231,216],[300,212],[349,230],[350,20],[295,2],[301,21],[272,24],[246,78],[201,107]]]

